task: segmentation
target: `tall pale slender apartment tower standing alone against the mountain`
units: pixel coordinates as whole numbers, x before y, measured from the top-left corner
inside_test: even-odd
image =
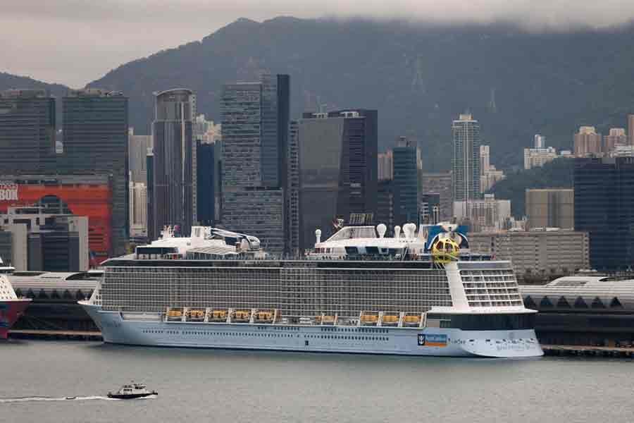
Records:
[[[461,114],[452,125],[454,201],[480,198],[480,123]]]

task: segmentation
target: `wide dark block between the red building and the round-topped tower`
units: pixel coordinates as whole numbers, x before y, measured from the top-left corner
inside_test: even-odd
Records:
[[[112,255],[123,255],[130,236],[128,217],[128,97],[89,88],[63,97],[63,173],[112,175]]]

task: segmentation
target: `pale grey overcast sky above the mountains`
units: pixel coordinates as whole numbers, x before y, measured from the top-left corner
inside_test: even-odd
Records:
[[[634,19],[634,0],[1,0],[0,71],[82,87],[120,64],[237,18],[514,21],[530,30]]]

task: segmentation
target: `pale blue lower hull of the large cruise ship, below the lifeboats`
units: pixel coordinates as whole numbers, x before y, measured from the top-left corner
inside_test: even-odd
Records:
[[[540,357],[532,329],[462,331],[394,326],[328,326],[163,321],[159,314],[122,314],[80,302],[106,343],[161,347],[282,350],[307,353]]]

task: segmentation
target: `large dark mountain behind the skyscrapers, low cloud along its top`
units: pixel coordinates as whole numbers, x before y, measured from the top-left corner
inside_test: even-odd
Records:
[[[194,90],[199,112],[219,121],[223,83],[289,73],[293,118],[324,104],[378,109],[380,149],[408,135],[423,148],[425,171],[440,171],[451,164],[452,120],[470,110],[493,163],[517,168],[535,133],[571,149],[580,125],[624,127],[634,113],[630,39],[634,25],[531,33],[507,23],[241,18],[88,86],[130,96],[130,124],[149,133],[154,91]]]

